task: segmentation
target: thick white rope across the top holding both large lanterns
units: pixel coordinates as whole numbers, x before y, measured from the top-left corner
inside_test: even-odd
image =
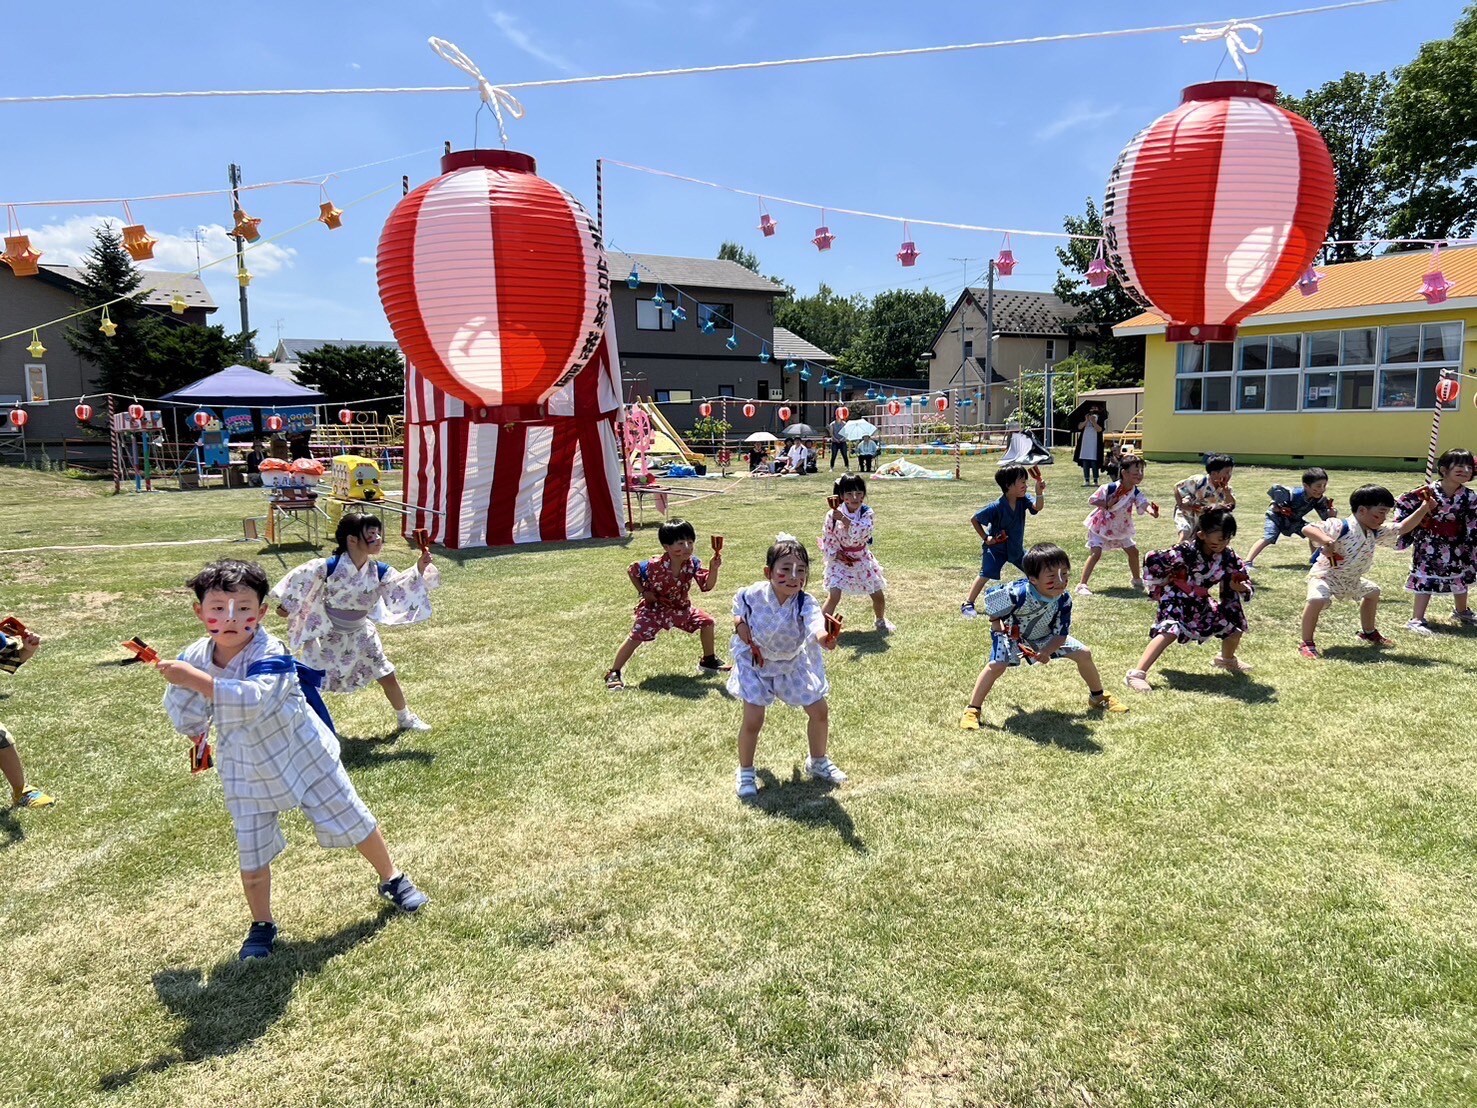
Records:
[[[1337,4],[1322,4],[1319,7],[1300,7],[1294,10],[1284,12],[1267,12],[1264,15],[1245,16],[1244,19],[1227,19],[1230,24],[1247,24],[1251,21],[1266,22],[1269,19],[1291,19],[1294,16],[1303,15],[1322,15],[1325,12],[1343,12],[1354,7],[1371,7],[1374,4],[1385,4],[1393,0],[1346,0],[1346,3]],[[733,62],[728,65],[697,65],[679,69],[644,69],[637,72],[620,72],[620,74],[604,74],[591,77],[561,77],[546,81],[515,81],[502,86],[490,86],[492,89],[560,89],[575,84],[598,84],[607,81],[638,81],[648,77],[688,77],[694,74],[713,74],[713,72],[741,72],[750,69],[777,69],[789,65],[821,65],[826,62],[858,62],[858,61],[873,61],[880,58],[919,58],[925,55],[936,53],[960,53],[964,50],[994,50],[1010,46],[1043,46],[1047,43],[1075,43],[1075,41],[1092,41],[1097,38],[1124,38],[1128,35],[1142,34],[1168,34],[1168,33],[1183,33],[1183,31],[1201,31],[1205,28],[1204,21],[1193,24],[1165,24],[1158,27],[1130,27],[1117,31],[1080,31],[1075,34],[1047,34],[1047,35],[1031,35],[1025,38],[998,38],[987,43],[953,43],[948,46],[919,46],[911,49],[899,50],[868,50],[860,53],[837,53],[837,55],[823,55],[815,58],[784,58],[768,62]],[[448,59],[450,61],[450,59]],[[388,96],[388,95],[411,95],[411,93],[465,93],[474,90],[486,96],[480,72],[477,74],[479,83],[468,84],[450,84],[450,86],[422,86],[422,87],[393,87],[393,89],[213,89],[201,92],[133,92],[133,93],[69,93],[62,96],[0,96],[0,103],[77,103],[84,100],[164,100],[164,99],[191,99],[191,98],[211,98],[211,96]]]

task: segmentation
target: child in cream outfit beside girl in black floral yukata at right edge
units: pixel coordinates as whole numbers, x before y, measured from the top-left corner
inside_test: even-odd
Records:
[[[1317,618],[1335,598],[1357,597],[1360,640],[1371,646],[1394,646],[1394,640],[1375,628],[1380,587],[1365,573],[1375,563],[1375,547],[1397,545],[1402,535],[1421,526],[1431,502],[1422,501],[1399,523],[1387,523],[1394,510],[1394,495],[1381,485],[1365,485],[1354,489],[1349,507],[1353,514],[1347,520],[1332,519],[1303,527],[1303,536],[1317,547],[1313,569],[1307,572],[1307,607],[1303,609],[1303,641],[1298,644],[1303,657],[1322,657],[1313,635]]]

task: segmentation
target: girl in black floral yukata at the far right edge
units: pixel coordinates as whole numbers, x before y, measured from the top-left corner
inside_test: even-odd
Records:
[[[1411,576],[1405,591],[1415,594],[1411,622],[1405,629],[1415,635],[1433,635],[1425,613],[1431,597],[1450,594],[1458,623],[1477,623],[1477,612],[1467,606],[1467,589],[1477,582],[1477,492],[1468,488],[1473,479],[1471,451],[1446,451],[1437,462],[1440,480],[1427,489],[1434,498],[1421,526],[1400,536],[1399,550],[1411,550]],[[1396,519],[1403,520],[1427,502],[1422,489],[1408,492],[1394,502]]]

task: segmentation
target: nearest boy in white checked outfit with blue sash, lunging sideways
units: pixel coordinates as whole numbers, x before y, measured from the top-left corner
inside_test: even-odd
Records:
[[[216,561],[188,585],[208,634],[177,662],[160,662],[170,683],[164,709],[182,734],[216,728],[216,765],[241,851],[241,886],[251,929],[241,960],[267,957],[276,941],[272,860],[287,841],[279,813],[301,808],[323,847],[356,847],[380,875],[380,895],[415,912],[427,895],[390,858],[380,826],[338,759],[338,739],[316,688],[306,693],[298,663],[261,628],[267,575],[248,561]],[[306,674],[312,678],[321,674]],[[313,706],[309,706],[309,700]]]

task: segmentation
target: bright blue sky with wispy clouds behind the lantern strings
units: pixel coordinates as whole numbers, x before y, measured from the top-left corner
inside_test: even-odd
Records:
[[[1260,4],[1281,10],[1298,4]],[[1312,6],[1312,4],[1309,4]],[[1224,3],[1052,4],[851,3],[747,4],[694,0],[419,0],[418,3],[117,4],[86,19],[64,6],[7,15],[10,49],[0,95],[180,89],[284,89],[456,84],[464,77],[425,40],[455,41],[498,81],[546,80],[688,65],[987,41],[1124,27],[1216,22],[1247,15]],[[1250,75],[1303,92],[1346,69],[1387,69],[1428,38],[1446,37],[1459,0],[1396,3],[1270,21]],[[736,13],[741,12],[741,13]],[[1219,44],[1174,34],[845,62],[758,72],[529,90],[510,146],[594,207],[597,157],[651,165],[737,188],[821,204],[959,223],[1060,229],[1062,216],[1100,196],[1133,133],[1168,111],[1183,86],[1210,80]],[[1221,77],[1230,69],[1221,66]],[[7,148],[0,199],[128,196],[222,188],[226,165],[245,180],[321,176],[396,155],[417,157],[329,182],[349,210],[329,232],[312,225],[248,264],[258,347],[291,338],[388,338],[372,257],[384,217],[412,185],[437,174],[443,139],[473,143],[476,93],[425,96],[134,100],[0,105]],[[495,142],[487,115],[482,143]],[[318,214],[316,188],[248,194],[264,233]],[[832,216],[839,236],[820,254],[815,213],[771,204],[780,233],[755,229],[758,202],[620,168],[606,173],[611,245],[635,253],[710,257],[737,239],[765,273],[802,293],[824,281],[840,293],[899,285],[953,297],[970,259],[976,279],[997,235],[914,228],[923,257],[898,266],[901,228]],[[90,225],[117,205],[22,207],[16,216],[49,261],[71,261]],[[134,205],[162,242],[157,267],[189,267],[227,251],[225,196]],[[1015,239],[1016,288],[1050,288],[1049,242]],[[207,270],[235,329],[233,266]],[[41,322],[41,321],[38,321]]]

